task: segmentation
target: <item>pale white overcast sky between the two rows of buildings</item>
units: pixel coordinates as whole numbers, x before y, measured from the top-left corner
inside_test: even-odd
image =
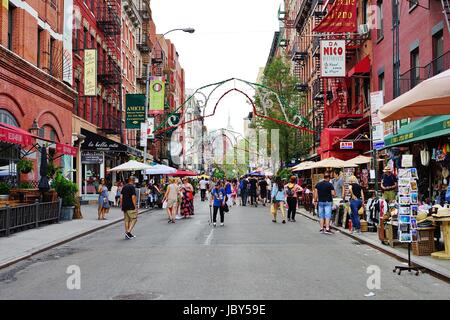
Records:
[[[279,29],[280,3],[281,0],[151,0],[151,8],[157,33],[174,28],[196,30],[193,34],[178,31],[167,35],[179,53],[186,88],[195,90],[229,78],[256,82],[259,69],[267,62],[274,32]],[[206,114],[234,85],[230,83],[218,92]],[[248,86],[238,83],[237,88],[252,94]],[[230,114],[234,130],[242,133],[243,118],[250,111],[246,98],[234,92],[222,100],[215,116],[205,124],[209,131],[226,127]]]

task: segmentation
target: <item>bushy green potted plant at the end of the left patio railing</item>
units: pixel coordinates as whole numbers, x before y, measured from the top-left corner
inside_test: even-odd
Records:
[[[62,200],[62,208],[60,220],[72,220],[75,209],[75,194],[78,187],[72,181],[64,178],[62,174],[57,174],[52,182],[52,188],[58,193],[58,197]]]

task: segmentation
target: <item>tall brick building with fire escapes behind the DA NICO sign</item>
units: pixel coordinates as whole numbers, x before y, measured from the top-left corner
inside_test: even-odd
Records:
[[[357,1],[358,31],[346,36],[317,36],[313,29],[320,24],[333,1],[285,1],[279,13],[282,27],[277,35],[281,55],[291,61],[299,79],[298,90],[304,93],[300,114],[309,121],[315,134],[310,136],[309,159],[337,157],[350,159],[370,149],[370,63],[371,31],[368,29],[370,1]],[[346,76],[321,77],[320,40],[344,39],[346,42]],[[303,133],[304,135],[309,135]],[[341,141],[355,141],[353,150],[341,150]]]

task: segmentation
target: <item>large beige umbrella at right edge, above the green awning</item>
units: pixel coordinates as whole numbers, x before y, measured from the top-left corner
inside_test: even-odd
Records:
[[[450,69],[429,78],[379,111],[384,122],[450,114]]]

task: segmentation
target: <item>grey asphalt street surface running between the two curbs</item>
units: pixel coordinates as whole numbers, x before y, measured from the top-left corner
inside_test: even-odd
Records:
[[[318,224],[271,221],[269,207],[233,207],[225,227],[208,224],[208,203],[168,224],[162,210],[139,216],[137,238],[116,224],[0,270],[0,299],[449,299],[428,274]],[[69,266],[81,288],[69,290]],[[375,267],[374,267],[375,266]],[[368,287],[379,268],[380,288]],[[370,281],[370,283],[374,283]]]

